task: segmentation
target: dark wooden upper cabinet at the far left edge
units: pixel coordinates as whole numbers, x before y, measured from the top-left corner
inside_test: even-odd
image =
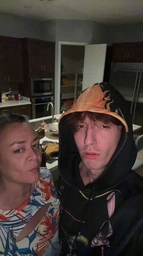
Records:
[[[0,82],[19,84],[22,80],[21,40],[0,36]]]

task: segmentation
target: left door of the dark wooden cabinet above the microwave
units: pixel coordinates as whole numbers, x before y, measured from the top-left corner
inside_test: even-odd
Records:
[[[39,40],[27,39],[27,58],[29,77],[41,77],[41,42]]]

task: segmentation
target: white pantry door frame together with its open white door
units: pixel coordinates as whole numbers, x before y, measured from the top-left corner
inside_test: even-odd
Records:
[[[96,82],[102,82],[104,77],[105,56],[107,44],[87,44],[87,43],[75,43],[75,42],[62,42],[56,43],[56,57],[55,57],[55,114],[59,114],[61,103],[61,48],[62,45],[70,46],[84,46],[84,71],[83,82],[81,90],[84,90],[91,84]],[[62,67],[64,68],[64,67]],[[64,69],[64,71],[66,71]],[[75,73],[77,74],[77,73]],[[77,79],[80,79],[77,77]],[[70,79],[73,80],[73,79]],[[76,77],[75,79],[76,80]],[[81,79],[82,80],[82,79]],[[77,82],[77,80],[76,80]],[[76,83],[77,85],[77,83]],[[79,87],[78,87],[79,90]],[[73,92],[71,92],[73,93]],[[65,95],[64,95],[65,96]],[[68,95],[69,96],[69,95]],[[70,95],[70,97],[73,94]],[[75,91],[75,96],[77,96]],[[70,104],[70,102],[68,102]],[[66,106],[65,106],[66,108]],[[64,109],[64,108],[63,108]]]

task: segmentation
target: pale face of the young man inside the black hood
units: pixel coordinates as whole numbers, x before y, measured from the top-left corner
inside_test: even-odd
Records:
[[[110,161],[121,137],[122,126],[91,121],[88,116],[77,123],[74,138],[88,173],[97,179]]]

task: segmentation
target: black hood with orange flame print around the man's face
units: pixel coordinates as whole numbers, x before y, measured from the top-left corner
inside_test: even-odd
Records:
[[[102,176],[94,182],[98,190],[105,190],[120,182],[135,163],[136,146],[132,136],[130,110],[123,96],[110,84],[102,82],[82,91],[68,110],[62,114],[59,120],[59,171],[65,183],[77,189],[82,189],[83,186],[82,183],[77,182],[81,157],[73,133],[66,123],[66,116],[73,112],[84,111],[114,116],[124,127],[115,154]]]

